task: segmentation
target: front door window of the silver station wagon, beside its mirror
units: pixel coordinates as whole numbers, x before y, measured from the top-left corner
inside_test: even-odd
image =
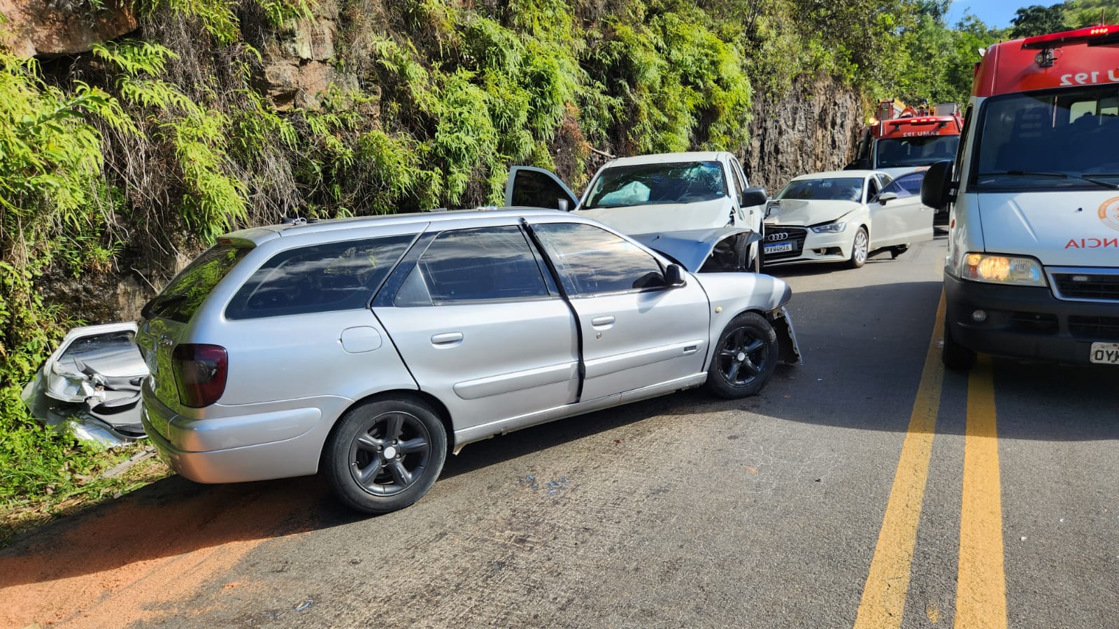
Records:
[[[594,225],[546,223],[533,231],[548,250],[570,295],[595,295],[665,285],[664,270],[633,243]]]

